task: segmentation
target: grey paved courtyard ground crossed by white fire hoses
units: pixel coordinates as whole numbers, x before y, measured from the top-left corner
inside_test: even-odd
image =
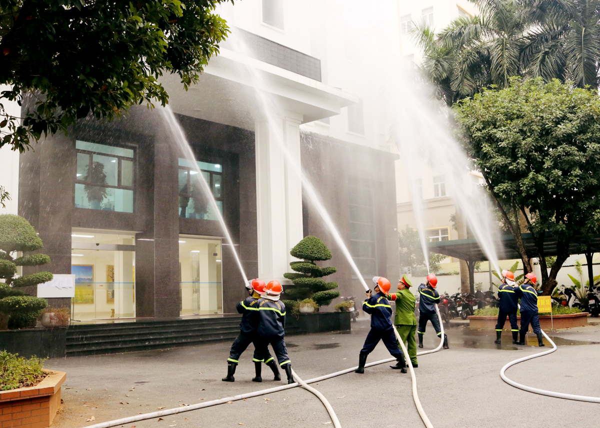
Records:
[[[287,340],[292,365],[304,379],[356,366],[368,330],[368,320],[353,324],[350,334],[292,336]],[[433,330],[433,329],[432,329]],[[511,360],[539,352],[537,346],[494,345],[494,331],[449,330],[451,349],[419,358],[419,397],[431,423],[442,427],[593,427],[600,405],[539,396],[511,387],[500,379],[500,368]],[[530,336],[532,336],[530,334]],[[600,326],[554,333],[558,351],[508,370],[509,378],[538,388],[600,396]],[[425,335],[432,348],[433,331]],[[572,344],[572,345],[571,345]],[[234,383],[226,374],[230,343],[190,346],[164,351],[131,352],[99,357],[49,360],[47,367],[67,372],[64,408],[53,427],[79,428],[157,410],[234,396],[274,387],[263,368],[262,384],[251,382],[251,353],[242,355]],[[544,348],[547,349],[547,348]],[[383,344],[369,361],[389,357]],[[265,370],[266,369],[266,370]],[[329,399],[343,427],[422,427],[412,400],[410,375],[388,365],[349,373],[313,384]],[[94,422],[86,420],[94,417]],[[269,396],[214,406],[164,420],[128,424],[126,428],[188,427],[322,427],[325,408],[301,388]]]

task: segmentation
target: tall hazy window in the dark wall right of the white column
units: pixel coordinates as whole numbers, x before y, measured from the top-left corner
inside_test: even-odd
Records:
[[[377,273],[375,212],[371,182],[349,179],[350,254],[364,276]]]

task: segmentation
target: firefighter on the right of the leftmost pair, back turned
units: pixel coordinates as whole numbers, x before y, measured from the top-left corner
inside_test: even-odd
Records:
[[[286,305],[279,301],[283,287],[277,281],[271,281],[265,287],[265,294],[259,299],[259,328],[256,340],[259,355],[267,358],[270,344],[275,351],[277,361],[281,368],[286,370],[287,383],[293,384],[292,363],[287,356],[286,342],[284,340],[284,327],[286,326]]]

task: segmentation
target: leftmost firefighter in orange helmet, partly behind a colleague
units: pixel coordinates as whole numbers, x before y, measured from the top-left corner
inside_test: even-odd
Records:
[[[233,341],[231,345],[231,351],[229,352],[229,358],[227,358],[227,376],[224,377],[224,382],[234,382],[235,378],[233,378],[233,373],[235,373],[235,369],[239,363],[239,357],[242,355],[242,352],[248,348],[250,343],[254,343],[254,369],[256,370],[256,377],[252,380],[254,382],[262,382],[262,378],[260,377],[260,371],[262,369],[261,364],[265,363],[271,370],[273,370],[273,374],[275,375],[275,380],[280,381],[281,376],[279,375],[279,369],[277,368],[277,364],[271,354],[267,351],[267,354],[263,357],[257,349],[256,344],[256,330],[259,326],[259,310],[258,310],[258,301],[260,296],[265,293],[265,282],[260,279],[253,279],[248,281],[248,293],[250,293],[250,297],[242,302],[239,302],[236,308],[238,312],[242,315],[242,321],[239,323],[239,335]]]

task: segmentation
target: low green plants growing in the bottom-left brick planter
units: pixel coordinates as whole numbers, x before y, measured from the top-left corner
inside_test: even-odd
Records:
[[[0,391],[37,385],[47,376],[42,370],[44,361],[37,357],[23,358],[19,354],[0,352]]]

